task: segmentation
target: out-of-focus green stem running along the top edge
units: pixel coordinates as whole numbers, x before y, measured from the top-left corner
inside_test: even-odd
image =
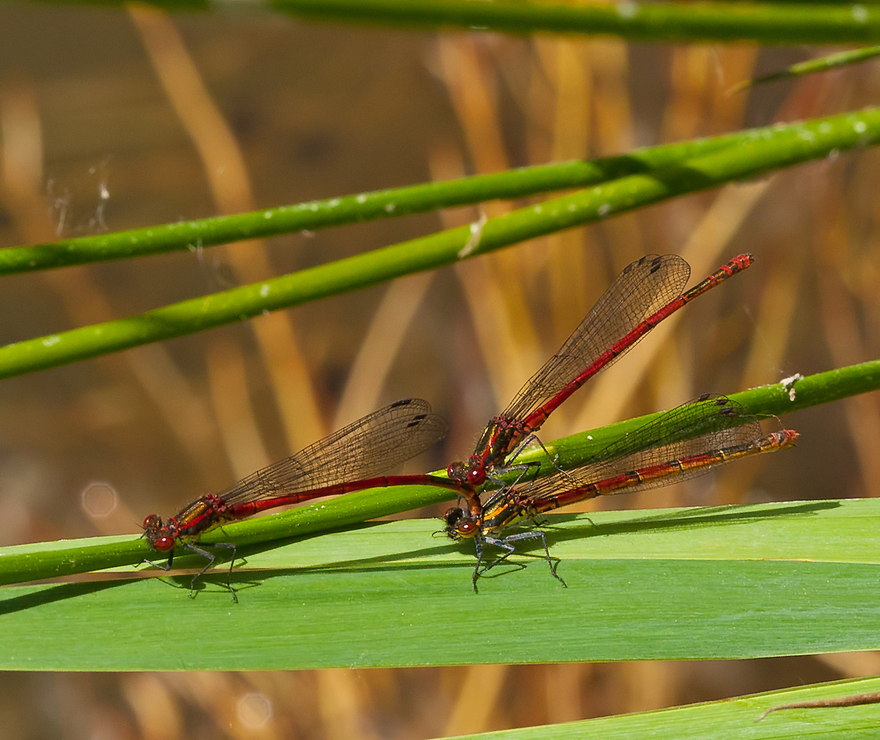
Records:
[[[101,0],[100,4],[121,3]],[[205,0],[160,0],[155,4],[168,11],[217,8]],[[880,39],[880,11],[872,4],[270,0],[261,7],[341,23],[524,34],[607,33],[621,39],[664,43],[755,40],[771,44],[834,44]]]

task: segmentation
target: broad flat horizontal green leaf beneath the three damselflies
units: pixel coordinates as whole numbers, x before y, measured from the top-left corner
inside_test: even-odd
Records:
[[[744,658],[880,648],[880,502],[550,517],[471,588],[436,520],[364,525],[221,571],[7,587],[4,669],[240,670]],[[833,626],[832,628],[829,628]],[[158,648],[161,649],[158,649]]]

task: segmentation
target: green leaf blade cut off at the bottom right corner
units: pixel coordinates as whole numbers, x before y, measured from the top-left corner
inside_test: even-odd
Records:
[[[474,740],[616,740],[650,737],[651,740],[773,740],[810,737],[834,740],[868,740],[880,729],[880,706],[788,709],[758,720],[770,707],[796,701],[840,699],[853,694],[876,692],[880,678],[836,681],[832,684],[802,686],[797,689],[710,701],[690,707],[674,707],[655,712],[601,717],[582,722],[565,722],[525,729],[509,729],[469,735]],[[686,728],[686,729],[685,729]]]

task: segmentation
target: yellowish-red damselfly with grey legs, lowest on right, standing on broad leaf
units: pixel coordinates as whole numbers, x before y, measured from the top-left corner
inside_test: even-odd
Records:
[[[455,540],[473,539],[477,552],[474,591],[477,578],[507,558],[515,551],[514,544],[524,539],[541,540],[550,572],[564,585],[550,559],[543,531],[505,532],[524,520],[539,526],[539,515],[570,503],[666,486],[737,458],[791,447],[796,439],[797,432],[791,429],[761,436],[759,421],[743,407],[707,394],[621,436],[585,465],[502,488],[488,500],[480,516],[473,516],[468,509],[450,509],[444,516],[446,533]],[[487,545],[504,552],[481,568]]]

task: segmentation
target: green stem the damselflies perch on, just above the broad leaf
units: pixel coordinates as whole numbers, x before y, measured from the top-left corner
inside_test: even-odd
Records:
[[[752,414],[781,415],[877,388],[880,388],[880,361],[873,361],[803,377],[791,385],[766,385],[734,393],[730,399]],[[649,414],[568,436],[546,443],[546,450],[557,458],[559,465],[572,469],[594,459],[612,440],[655,420],[658,415]],[[731,423],[735,422],[731,420]],[[539,475],[549,475],[556,470],[539,449],[527,451],[519,459],[539,461]],[[231,541],[238,546],[265,546],[269,542],[338,530],[369,519],[392,516],[449,500],[450,492],[441,487],[399,486],[359,491],[280,514],[227,524],[222,530],[207,532],[200,540],[209,544]],[[178,547],[179,556],[185,557],[186,553],[185,549]],[[4,547],[0,548],[0,584],[130,567],[145,559],[155,560],[157,554],[150,550],[143,539],[130,535]],[[195,559],[187,561],[183,557],[176,560],[179,565],[187,562],[195,564]]]

